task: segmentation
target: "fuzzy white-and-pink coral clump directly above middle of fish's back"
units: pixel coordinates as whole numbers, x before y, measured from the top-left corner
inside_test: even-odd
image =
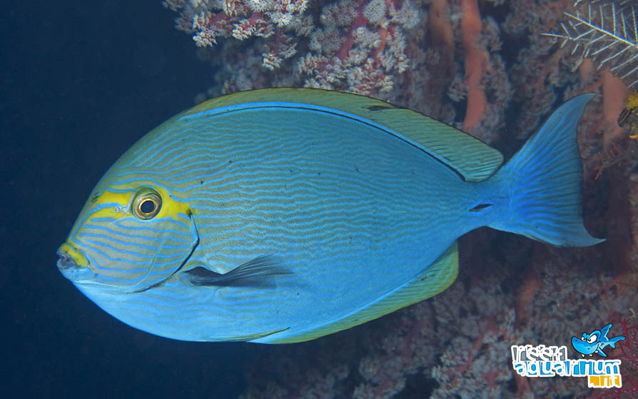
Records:
[[[393,72],[405,71],[409,62],[402,28],[419,21],[409,1],[400,8],[397,4],[342,0],[325,6],[320,16],[325,28],[312,34],[311,52],[298,64],[298,71],[308,76],[305,86],[387,95]]]

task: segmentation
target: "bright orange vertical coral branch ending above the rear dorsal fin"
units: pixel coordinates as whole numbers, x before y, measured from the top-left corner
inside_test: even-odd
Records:
[[[465,84],[467,85],[467,111],[463,120],[463,130],[476,126],[485,111],[487,99],[480,87],[480,80],[487,69],[487,51],[476,46],[477,36],[481,33],[481,16],[477,0],[461,0],[463,16],[461,31],[465,48]]]

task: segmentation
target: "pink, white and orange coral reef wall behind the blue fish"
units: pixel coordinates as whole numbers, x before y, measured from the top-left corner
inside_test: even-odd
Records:
[[[632,123],[618,124],[637,76],[631,3],[164,1],[216,68],[205,96],[268,86],[353,91],[464,128],[510,156],[559,103],[597,94],[579,123],[579,148],[587,226],[606,243],[550,248],[472,232],[460,239],[460,276],[450,289],[342,333],[260,348],[242,398],[600,394],[579,378],[515,376],[509,346],[568,345],[572,335],[624,320],[636,307],[638,140]],[[610,32],[628,43],[600,50],[585,26],[599,28],[592,36]],[[548,32],[564,37],[542,35]]]

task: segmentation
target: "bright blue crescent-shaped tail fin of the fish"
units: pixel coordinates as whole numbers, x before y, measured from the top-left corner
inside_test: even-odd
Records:
[[[576,125],[593,94],[562,104],[494,176],[509,191],[509,212],[493,228],[555,246],[592,246],[582,222],[582,166]]]

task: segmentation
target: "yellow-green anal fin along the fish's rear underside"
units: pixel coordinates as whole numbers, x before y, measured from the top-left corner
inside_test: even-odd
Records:
[[[432,298],[442,291],[445,291],[454,283],[459,272],[459,256],[457,243],[452,244],[447,251],[443,253],[435,263],[422,271],[412,280],[403,284],[386,296],[370,303],[368,307],[359,310],[356,313],[346,316],[328,325],[323,325],[315,330],[306,331],[298,335],[292,335],[286,338],[266,340],[268,343],[296,343],[305,340],[313,340],[336,333],[340,330],[363,324],[375,318],[392,313],[400,308],[405,308],[412,303]]]

